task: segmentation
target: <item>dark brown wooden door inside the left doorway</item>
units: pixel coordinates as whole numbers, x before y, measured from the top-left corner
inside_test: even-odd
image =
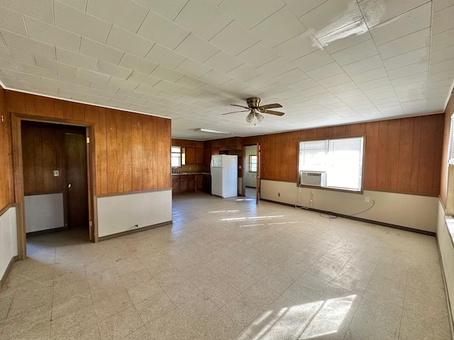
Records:
[[[89,225],[85,135],[65,133],[68,227]]]

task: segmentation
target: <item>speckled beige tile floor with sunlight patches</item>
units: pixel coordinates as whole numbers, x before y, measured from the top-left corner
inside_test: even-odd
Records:
[[[173,225],[28,238],[0,339],[450,339],[434,237],[201,193]]]

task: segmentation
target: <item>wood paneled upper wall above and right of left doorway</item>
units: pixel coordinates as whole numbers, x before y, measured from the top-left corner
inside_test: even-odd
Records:
[[[92,124],[94,195],[171,187],[169,119],[9,90],[4,91],[4,102],[8,116]],[[11,123],[7,126],[11,134]]]

